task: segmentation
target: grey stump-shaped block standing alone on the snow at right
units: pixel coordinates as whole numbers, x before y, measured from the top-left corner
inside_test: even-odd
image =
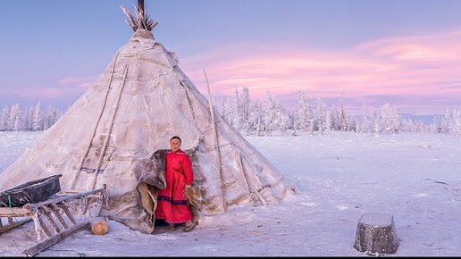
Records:
[[[358,220],[354,247],[368,255],[394,254],[398,238],[394,217],[386,213],[365,213]]]

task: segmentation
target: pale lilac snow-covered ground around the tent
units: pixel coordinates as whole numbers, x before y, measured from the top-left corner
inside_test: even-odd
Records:
[[[0,171],[40,133],[0,132]],[[334,133],[247,137],[298,188],[282,205],[202,215],[196,230],[144,235],[109,221],[39,256],[365,256],[353,247],[363,213],[394,216],[397,256],[461,255],[461,139],[437,134]],[[33,245],[33,227],[0,235],[0,256]]]

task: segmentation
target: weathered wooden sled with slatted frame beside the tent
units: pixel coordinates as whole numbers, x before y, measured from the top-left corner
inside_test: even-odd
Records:
[[[68,204],[74,200],[85,199],[85,210],[83,213],[86,213],[90,198],[92,200],[96,199],[96,209],[93,214],[89,213],[89,217],[81,221],[76,221]],[[105,202],[106,194],[104,185],[103,188],[81,193],[69,194],[61,192],[38,203],[28,203],[16,207],[0,207],[0,234],[8,230],[13,230],[29,221],[34,221],[38,242],[36,245],[24,250],[22,254],[35,256],[46,248],[68,238],[78,230],[85,228],[90,224],[91,218],[99,215]],[[8,221],[8,224],[4,225],[2,219]]]

